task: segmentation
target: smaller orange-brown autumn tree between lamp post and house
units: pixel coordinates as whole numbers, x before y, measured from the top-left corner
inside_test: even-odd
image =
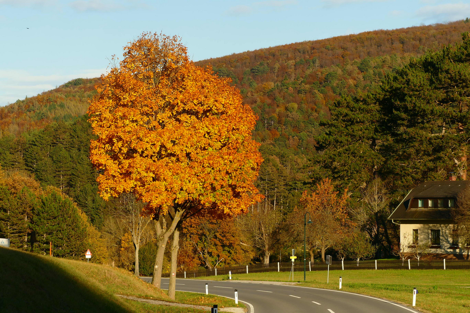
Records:
[[[324,178],[316,184],[315,191],[304,191],[300,198],[300,207],[296,207],[292,214],[290,221],[295,225],[302,225],[295,228],[298,230],[296,235],[302,237],[302,243],[304,214],[307,211],[311,214],[313,223],[306,226],[306,251],[310,252],[311,261],[315,249],[320,250],[321,260],[324,261],[325,250],[341,239],[348,225],[346,213],[348,195],[346,190],[341,195],[338,193],[334,191],[331,179]]]

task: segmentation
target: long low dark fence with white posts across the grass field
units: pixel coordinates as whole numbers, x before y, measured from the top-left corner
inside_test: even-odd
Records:
[[[434,260],[434,261],[420,261],[417,260],[361,260],[357,261],[332,261],[329,266],[330,270],[334,269],[470,269],[470,260]],[[213,270],[203,271],[187,271],[178,272],[176,277],[178,278],[195,278],[213,275],[228,275],[231,271],[232,274],[246,274],[248,267],[248,273],[264,273],[264,272],[289,272],[292,268],[292,262],[279,262],[265,264],[248,264],[238,266],[225,266],[217,267]],[[328,265],[324,262],[306,262],[306,271],[326,271]],[[294,262],[294,271],[300,272],[304,270],[303,262]],[[169,276],[169,273],[164,274]]]

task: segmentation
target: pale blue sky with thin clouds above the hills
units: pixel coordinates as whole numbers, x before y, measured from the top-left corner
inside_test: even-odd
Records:
[[[194,61],[470,17],[470,0],[0,0],[0,106],[106,72],[144,31]]]

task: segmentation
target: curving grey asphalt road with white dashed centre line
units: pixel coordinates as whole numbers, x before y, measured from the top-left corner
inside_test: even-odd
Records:
[[[150,277],[141,277],[151,282]],[[204,281],[176,279],[176,290],[209,293],[228,298],[235,297],[249,308],[249,313],[409,313],[419,312],[405,305],[384,299],[363,296],[340,290],[316,289],[299,286],[274,285],[258,282]],[[168,278],[162,278],[162,289],[168,288]],[[410,300],[412,292],[410,290]]]

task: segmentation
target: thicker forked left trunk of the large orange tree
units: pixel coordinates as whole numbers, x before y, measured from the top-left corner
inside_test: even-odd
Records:
[[[157,256],[155,257],[155,266],[153,268],[152,284],[157,288],[161,286],[165,245],[168,242],[168,238],[173,234],[183,213],[184,210],[177,210],[168,228],[166,227],[165,216],[160,216],[158,221],[155,222],[155,230],[157,232]]]

